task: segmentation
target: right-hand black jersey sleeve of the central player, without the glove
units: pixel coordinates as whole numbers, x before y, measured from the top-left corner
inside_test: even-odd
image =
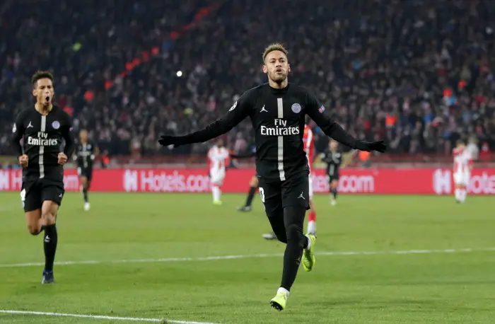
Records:
[[[306,115],[314,120],[328,137],[356,149],[356,139],[332,118],[325,115],[325,107],[309,93],[306,93]]]

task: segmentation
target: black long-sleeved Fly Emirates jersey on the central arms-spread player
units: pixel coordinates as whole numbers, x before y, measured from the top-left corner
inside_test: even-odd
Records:
[[[301,86],[289,83],[286,88],[277,89],[265,83],[246,91],[224,117],[186,135],[184,140],[189,143],[208,141],[250,117],[255,129],[257,175],[284,181],[291,175],[309,172],[303,145],[305,115],[328,136],[355,147],[356,140],[324,112],[325,107]]]

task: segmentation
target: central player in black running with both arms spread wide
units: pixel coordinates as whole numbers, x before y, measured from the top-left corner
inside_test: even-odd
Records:
[[[224,117],[197,132],[162,136],[159,140],[163,146],[208,141],[250,117],[255,129],[260,198],[276,237],[286,243],[281,285],[270,301],[279,311],[286,308],[301,258],[306,271],[315,265],[316,238],[310,233],[303,234],[305,212],[309,209],[309,168],[303,144],[305,115],[309,115],[327,136],[354,149],[386,149],[383,141],[365,142],[351,137],[325,115],[325,108],[305,88],[289,83],[287,74],[291,66],[287,54],[283,45],[267,47],[262,59],[268,83],[243,93]]]

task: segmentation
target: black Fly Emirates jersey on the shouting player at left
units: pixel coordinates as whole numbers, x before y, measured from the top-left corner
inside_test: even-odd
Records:
[[[16,117],[12,133],[18,156],[27,154],[29,158],[28,167],[23,168],[23,180],[64,180],[64,167],[58,163],[62,139],[65,139],[67,158],[74,152],[71,118],[64,110],[54,105],[45,116],[34,107],[25,109]],[[24,145],[21,146],[19,141],[23,137]]]

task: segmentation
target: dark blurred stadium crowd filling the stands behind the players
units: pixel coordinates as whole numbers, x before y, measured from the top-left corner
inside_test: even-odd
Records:
[[[54,72],[74,130],[111,155],[206,151],[157,139],[204,127],[266,82],[270,42],[288,47],[289,80],[356,137],[385,138],[397,153],[447,153],[468,136],[495,149],[495,1],[36,2],[0,9],[0,154],[13,153],[13,118],[33,103],[37,69]],[[248,151],[250,122],[227,139]]]

